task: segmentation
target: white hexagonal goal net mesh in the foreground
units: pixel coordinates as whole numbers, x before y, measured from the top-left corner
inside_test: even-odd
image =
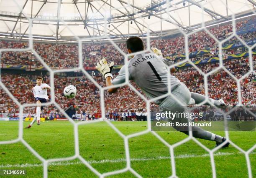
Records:
[[[193,2],[192,2],[193,3]],[[124,8],[128,8],[128,9],[132,9],[133,5],[131,5],[130,3],[126,3],[123,2],[123,4],[125,5]],[[171,6],[171,1],[167,1],[166,2],[167,8],[164,8],[164,11],[168,14],[170,13],[168,8]],[[225,4],[223,4],[225,6]],[[18,6],[18,4],[17,4]],[[58,1],[58,20],[59,22],[63,23],[68,29],[69,26],[67,26],[65,24],[65,22],[60,18],[60,8],[61,8],[61,0]],[[161,8],[161,7],[160,7]],[[202,8],[202,12],[204,10],[203,4],[202,6],[200,6],[200,8]],[[21,10],[22,8],[20,8]],[[255,12],[253,12],[255,14]],[[203,14],[203,13],[202,13]],[[139,14],[136,13],[136,15],[140,16]],[[168,18],[164,19],[170,23],[173,22],[172,18],[170,18],[171,16],[169,16]],[[48,165],[50,163],[54,163],[54,162],[59,162],[59,161],[68,161],[68,160],[74,160],[74,159],[79,159],[82,161],[82,163],[84,163],[84,165],[87,166],[87,168],[89,168],[90,170],[92,170],[93,173],[95,173],[97,176],[99,177],[106,177],[109,175],[115,175],[115,174],[120,174],[120,173],[124,173],[126,171],[131,171],[131,173],[133,173],[133,175],[135,175],[136,177],[141,177],[141,175],[139,175],[135,170],[133,170],[133,168],[131,168],[131,158],[130,158],[130,151],[129,151],[129,144],[128,144],[128,140],[130,138],[134,138],[134,137],[138,137],[140,135],[144,135],[146,133],[151,132],[151,118],[150,118],[150,103],[153,102],[154,100],[157,100],[159,98],[164,98],[167,95],[172,95],[172,93],[167,93],[166,95],[163,96],[159,96],[158,98],[154,98],[153,100],[148,100],[147,98],[145,98],[144,95],[142,95],[138,90],[136,90],[136,88],[133,87],[133,85],[131,85],[131,83],[128,81],[128,75],[126,75],[126,81],[125,83],[121,84],[121,85],[117,85],[115,87],[119,87],[119,86],[123,86],[123,85],[128,85],[137,95],[139,95],[145,102],[146,102],[146,108],[147,108],[147,129],[138,133],[133,133],[131,135],[124,135],[122,132],[120,132],[120,130],[118,130],[118,128],[115,127],[115,125],[113,125],[113,123],[111,123],[107,118],[105,118],[105,102],[104,102],[104,91],[107,90],[109,87],[102,87],[100,86],[95,80],[94,78],[92,78],[92,76],[87,73],[86,70],[84,70],[83,68],[83,59],[82,59],[82,41],[84,39],[80,39],[78,38],[74,33],[74,37],[77,39],[78,41],[78,57],[79,57],[79,67],[77,68],[71,68],[71,69],[60,69],[60,70],[52,70],[45,62],[44,60],[41,59],[41,56],[38,55],[38,53],[36,53],[36,51],[33,49],[33,40],[32,40],[32,33],[31,33],[31,28],[32,28],[32,22],[33,20],[36,19],[31,19],[29,17],[26,17],[29,20],[29,47],[28,48],[24,48],[24,49],[0,49],[0,53],[2,54],[3,52],[7,52],[7,51],[12,51],[12,52],[18,52],[18,51],[31,51],[34,53],[34,55],[36,56],[36,58],[40,61],[40,63],[44,66],[44,68],[46,68],[49,73],[50,73],[50,86],[52,88],[51,90],[51,102],[48,103],[44,103],[43,105],[51,105],[54,104],[56,106],[56,108],[64,114],[65,117],[67,117],[69,119],[69,121],[74,125],[74,147],[75,147],[75,154],[71,157],[68,158],[56,158],[56,159],[45,159],[43,158],[41,155],[39,155],[36,150],[34,150],[27,142],[26,140],[23,139],[23,110],[26,107],[36,107],[36,104],[20,104],[20,102],[13,96],[12,93],[10,93],[10,91],[8,90],[8,88],[5,87],[4,83],[2,81],[0,81],[0,86],[1,88],[3,88],[3,90],[9,95],[9,97],[14,101],[14,103],[16,105],[19,106],[19,113],[20,113],[20,119],[19,119],[19,133],[18,133],[18,138],[15,140],[8,140],[8,141],[0,141],[0,144],[11,144],[11,143],[17,143],[17,142],[21,142],[23,143],[23,145],[26,146],[26,148],[28,148],[28,150],[35,155],[39,160],[41,160],[41,162],[43,163],[43,167],[44,167],[44,177],[47,178],[48,177]],[[49,21],[49,20],[47,20]],[[180,33],[182,33],[182,35],[184,36],[184,43],[185,43],[185,54],[186,54],[186,58],[185,60],[180,61],[179,63],[176,63],[175,65],[169,66],[169,69],[171,69],[174,66],[177,65],[181,65],[185,62],[189,63],[190,65],[192,65],[197,71],[199,71],[199,73],[201,75],[203,75],[204,78],[204,87],[205,87],[205,95],[208,96],[208,77],[217,72],[218,70],[224,70],[226,73],[228,73],[228,75],[230,75],[237,84],[238,87],[238,103],[239,105],[243,105],[242,104],[242,98],[241,98],[241,81],[244,80],[246,77],[248,77],[251,73],[253,73],[253,75],[255,75],[255,71],[254,71],[254,66],[253,66],[253,57],[252,57],[252,49],[256,46],[256,44],[254,44],[253,46],[248,46],[237,34],[236,34],[236,24],[235,24],[235,15],[233,14],[233,33],[232,35],[230,35],[227,39],[225,40],[218,40],[214,35],[212,35],[210,33],[209,30],[207,30],[207,28],[205,28],[205,23],[203,20],[203,15],[202,15],[202,28],[200,28],[199,30],[195,30],[192,31],[191,33],[184,33],[184,31],[180,30],[180,28],[178,27],[178,29],[180,30]],[[175,23],[176,24],[176,23]],[[146,26],[150,27],[149,24],[145,24]],[[213,69],[212,71],[210,71],[209,73],[204,73],[200,68],[197,67],[197,65],[195,65],[190,59],[189,59],[189,40],[188,37],[194,33],[197,33],[200,30],[204,30],[205,33],[207,33],[208,35],[210,35],[210,37],[212,39],[214,39],[219,46],[219,67]],[[72,30],[70,30],[72,33]],[[150,50],[150,38],[149,38],[149,33],[150,30],[149,28],[147,29],[147,36],[148,38],[146,38],[146,42],[147,42],[147,48],[146,48],[146,52],[147,51],[151,51]],[[246,48],[248,48],[248,52],[249,52],[249,65],[250,65],[250,70],[248,71],[248,73],[244,74],[241,78],[236,78],[236,76],[234,76],[232,73],[230,73],[229,70],[227,70],[224,66],[223,66],[223,55],[222,55],[222,46],[223,43],[225,43],[227,40],[229,40],[232,37],[236,37],[237,39],[239,39],[241,41],[241,43],[243,43],[244,46],[246,46]],[[108,39],[109,42],[116,48],[116,50],[118,50],[123,56],[125,56],[125,64],[128,63],[128,57],[134,55],[133,54],[125,54],[114,42],[113,40],[110,39],[110,37],[107,34],[107,19],[105,18],[105,33],[103,36],[101,37],[92,37],[92,38],[86,38],[86,40],[97,40],[97,39]],[[139,53],[143,53],[145,51],[139,52]],[[82,72],[86,75],[86,77],[88,79],[90,79],[92,81],[92,83],[99,88],[100,90],[100,104],[101,104],[101,113],[102,113],[102,118],[104,121],[100,121],[100,120],[92,120],[92,121],[88,121],[88,122],[74,122],[65,112],[64,110],[60,107],[60,105],[58,103],[56,103],[55,101],[55,93],[54,93],[54,74],[56,73],[61,73],[61,72],[73,72],[76,70],[82,70]],[[126,65],[126,71],[128,71],[128,65]],[[169,82],[169,88],[170,86],[170,82]],[[171,91],[171,90],[169,90]],[[79,91],[78,91],[79,92]],[[179,100],[177,100],[177,102],[180,102]],[[207,100],[205,100],[203,103],[207,102]],[[201,104],[203,104],[201,103]],[[225,113],[223,113],[224,115],[226,115]],[[253,116],[255,117],[255,114],[253,114]],[[96,123],[96,122],[106,122],[108,123],[108,125],[115,130],[116,133],[118,133],[118,135],[120,135],[123,138],[123,142],[124,142],[124,147],[125,147],[125,158],[126,158],[126,167],[121,169],[121,170],[115,170],[112,172],[107,172],[107,173],[100,173],[98,170],[96,170],[95,168],[92,167],[92,165],[90,165],[90,163],[85,160],[84,158],[82,158],[82,156],[79,153],[79,135],[78,135],[78,126],[79,125],[84,125],[84,124],[90,124],[90,123]],[[153,135],[155,135],[155,137],[157,139],[159,139],[162,143],[164,143],[164,145],[166,145],[166,147],[169,148],[169,152],[170,152],[170,159],[171,159],[171,166],[172,166],[172,176],[171,177],[177,177],[176,174],[176,165],[175,165],[175,156],[174,156],[174,148],[178,147],[179,145],[182,145],[186,142],[188,142],[189,140],[194,141],[197,145],[199,145],[200,147],[202,147],[203,149],[205,149],[209,155],[210,155],[210,163],[211,163],[211,167],[212,167],[212,177],[216,177],[216,169],[215,169],[215,161],[214,161],[214,153],[221,148],[221,146],[227,142],[229,142],[233,147],[235,147],[236,149],[238,149],[239,151],[241,151],[245,157],[246,157],[246,163],[247,163],[247,168],[248,168],[248,177],[252,178],[252,170],[251,170],[251,163],[250,163],[250,158],[249,158],[249,154],[256,148],[256,145],[254,145],[253,147],[251,147],[249,150],[245,151],[243,149],[241,149],[238,145],[236,145],[235,143],[233,143],[230,138],[229,138],[229,132],[227,130],[227,128],[225,128],[225,137],[227,138],[227,140],[225,141],[225,143],[223,143],[222,145],[219,145],[218,147],[210,150],[209,148],[207,148],[205,145],[203,145],[202,143],[200,143],[197,139],[195,139],[192,136],[191,131],[189,132],[189,136],[187,138],[185,138],[184,140],[179,141],[178,143],[175,143],[173,145],[170,145],[168,142],[166,142],[166,140],[164,140],[163,138],[161,138],[161,136],[159,136],[158,133],[152,131],[151,132]],[[82,143],[80,143],[82,144]]]

